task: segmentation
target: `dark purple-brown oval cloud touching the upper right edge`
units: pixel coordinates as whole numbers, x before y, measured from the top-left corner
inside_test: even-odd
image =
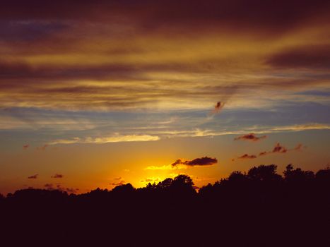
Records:
[[[293,47],[274,54],[266,64],[279,68],[330,68],[330,45]]]

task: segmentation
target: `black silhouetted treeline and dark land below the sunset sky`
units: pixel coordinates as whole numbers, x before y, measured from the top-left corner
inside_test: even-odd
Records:
[[[330,246],[330,169],[259,166],[199,193],[185,175],[82,195],[25,189],[0,209],[0,246]]]

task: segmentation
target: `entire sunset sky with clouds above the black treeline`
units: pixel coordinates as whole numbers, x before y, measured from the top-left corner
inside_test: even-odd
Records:
[[[0,8],[0,193],[330,164],[330,2]]]

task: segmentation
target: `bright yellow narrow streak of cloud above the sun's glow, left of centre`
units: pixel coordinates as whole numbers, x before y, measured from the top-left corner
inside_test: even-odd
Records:
[[[54,140],[49,143],[49,145],[57,144],[74,144],[74,143],[121,143],[121,142],[141,142],[141,141],[151,141],[160,140],[158,136],[155,135],[112,135],[109,137],[100,138],[71,138],[71,139],[59,139]]]

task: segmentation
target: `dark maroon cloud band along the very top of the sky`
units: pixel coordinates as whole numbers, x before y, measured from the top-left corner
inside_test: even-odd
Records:
[[[75,20],[116,22],[130,20],[143,30],[187,28],[204,30],[288,30],[313,17],[325,16],[329,1],[5,1],[0,9],[2,20]],[[328,19],[328,18],[326,18]],[[235,28],[235,29],[234,29]],[[187,32],[187,30],[186,30]]]

